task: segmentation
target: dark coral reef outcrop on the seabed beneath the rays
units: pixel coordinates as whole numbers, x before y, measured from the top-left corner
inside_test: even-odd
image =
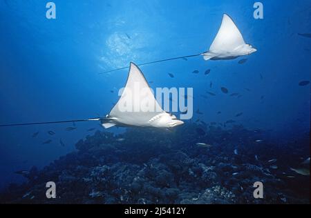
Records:
[[[198,135],[196,128],[206,134]],[[264,143],[256,143],[265,139]],[[308,141],[308,140],[307,140]],[[211,148],[197,146],[208,143]],[[122,135],[95,132],[77,151],[53,161],[22,185],[12,184],[1,203],[30,204],[309,204],[309,179],[291,164],[308,152],[284,155],[267,133],[194,123],[172,131],[129,128]],[[294,147],[288,143],[286,149]],[[236,152],[234,152],[236,150]],[[269,151],[269,152],[267,152]],[[282,154],[282,155],[277,155]],[[256,155],[256,158],[255,158]],[[273,170],[269,159],[278,159]],[[57,198],[46,198],[54,181]],[[262,181],[264,198],[254,199]]]

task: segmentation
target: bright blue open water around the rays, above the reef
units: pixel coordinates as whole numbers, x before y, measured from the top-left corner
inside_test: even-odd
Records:
[[[151,88],[193,87],[194,111],[203,112],[194,114],[194,121],[235,119],[245,128],[270,130],[280,141],[310,132],[310,85],[298,84],[310,81],[311,39],[298,33],[311,32],[311,1],[262,1],[264,19],[254,19],[254,1],[249,0],[55,0],[57,19],[46,19],[46,2],[0,1],[0,123],[104,116],[117,101],[127,70],[100,72],[130,61],[203,52],[227,13],[258,52],[244,64],[238,64],[239,59],[194,57],[142,66],[144,76],[153,81]],[[207,69],[211,73],[204,75]],[[220,87],[243,97],[223,95]],[[206,91],[216,97],[202,99]],[[243,116],[234,117],[239,112]],[[102,130],[96,122],[76,123],[77,130],[71,132],[64,130],[68,126],[1,128],[0,187],[23,181],[16,170],[42,168],[75,150],[74,144],[90,134],[87,129]],[[48,130],[56,135],[48,135]],[[53,142],[41,144],[48,139]],[[59,139],[65,147],[59,146]]]

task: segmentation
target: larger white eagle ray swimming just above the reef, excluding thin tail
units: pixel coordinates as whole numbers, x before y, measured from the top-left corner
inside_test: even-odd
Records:
[[[135,63],[130,64],[129,76],[119,101],[101,122],[104,128],[111,126],[172,128],[183,123],[176,116],[162,110]]]

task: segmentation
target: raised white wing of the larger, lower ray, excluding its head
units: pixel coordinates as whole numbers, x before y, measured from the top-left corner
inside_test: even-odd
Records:
[[[131,63],[126,86],[109,113],[109,118],[116,124],[151,126],[151,119],[163,112],[144,75]]]

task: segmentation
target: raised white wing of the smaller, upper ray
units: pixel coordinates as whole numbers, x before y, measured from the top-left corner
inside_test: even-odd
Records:
[[[245,41],[242,37],[240,30],[232,21],[232,19],[227,15],[223,15],[223,21],[221,23],[220,29],[209,48],[209,52],[213,51],[232,51],[239,46],[243,46]]]

